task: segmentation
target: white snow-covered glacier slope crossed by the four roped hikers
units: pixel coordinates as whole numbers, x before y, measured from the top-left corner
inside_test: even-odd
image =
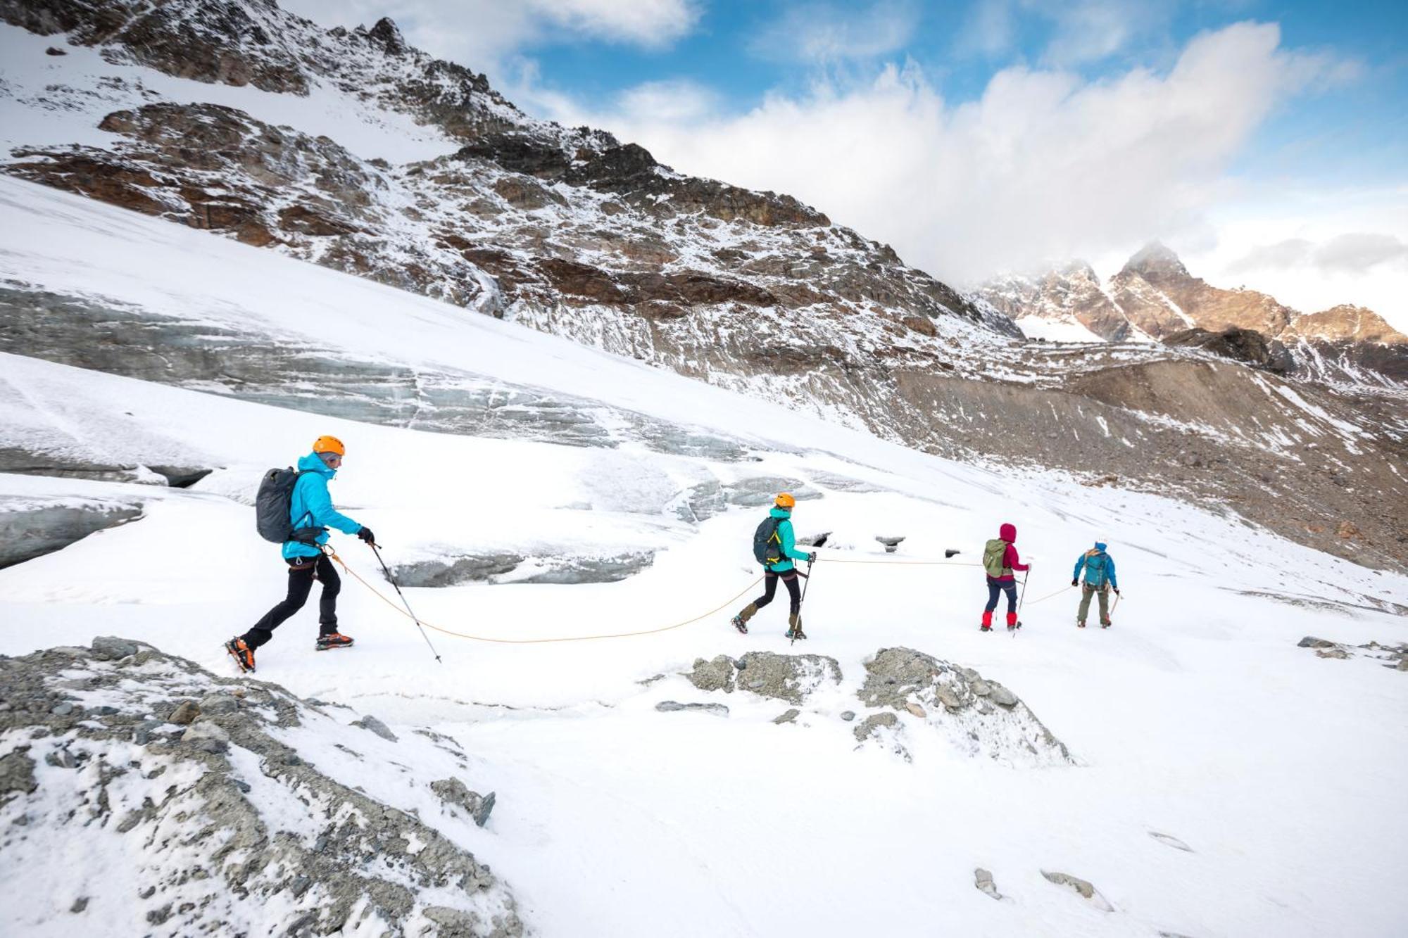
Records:
[[[11,206],[32,207],[39,192],[4,189]],[[0,356],[11,442],[70,446],[68,459],[134,466],[138,479],[158,458],[214,470],[187,489],[0,473],[0,496],[142,504],[139,520],[0,570],[4,654],[125,635],[230,673],[220,642],[284,580],[277,549],[252,531],[251,490],[260,470],[331,432],[348,444],[334,496],[376,530],[387,562],[511,555],[522,576],[407,590],[446,630],[429,632],[444,665],[348,577],[341,621],[358,646],[314,652],[304,610],[260,651],[258,676],[377,715],[403,738],[429,727],[462,746],[474,790],[497,793],[483,830],[427,810],[424,777],[414,797],[389,803],[420,806],[421,823],[490,865],[538,934],[901,934],[935,923],[974,935],[1402,931],[1385,897],[1405,872],[1408,828],[1391,793],[1408,783],[1408,675],[1383,666],[1395,665],[1388,651],[1360,646],[1408,641],[1408,577],[1231,510],[924,455],[270,252],[44,199],[48,221],[7,244],[6,277],[28,289],[62,283],[215,334],[258,327],[349,363],[528,387],[614,435],[565,445],[546,431],[422,432]],[[139,254],[114,246],[114,232]],[[1286,400],[1278,387],[1259,393]],[[1332,413],[1287,403],[1329,439]],[[1333,432],[1360,445],[1364,431]],[[714,444],[679,442],[698,439]],[[798,534],[829,532],[804,607],[810,639],[797,646],[779,604],[749,635],[728,624],[758,589],[749,541],[760,506],[784,487],[801,496]],[[1002,521],[1033,562],[1011,638],[976,628],[986,589],[973,565]],[[877,535],[907,539],[886,555]],[[1070,566],[1097,538],[1118,558],[1125,599],[1111,630],[1076,630]],[[365,546],[335,545],[386,590]],[[945,559],[949,549],[959,554]],[[515,582],[563,555],[625,551],[650,563],[617,582]],[[1298,648],[1311,634],[1346,658]],[[895,648],[935,662],[880,654]],[[748,652],[777,658],[738,672],[728,659]],[[800,652],[835,670],[784,658]],[[718,655],[728,659],[715,668]],[[807,679],[777,683],[788,669]],[[658,707],[669,701],[712,707]],[[300,758],[355,773],[341,749],[314,744],[320,725],[297,741]],[[332,730],[328,741],[356,748]],[[35,744],[3,735],[0,755],[21,745]],[[379,746],[375,758],[403,756]],[[68,784],[49,768],[41,784]],[[7,830],[27,797],[0,808]],[[52,817],[35,811],[27,837]],[[115,849],[103,838],[118,834],[84,837]],[[68,873],[94,882],[111,855],[72,855]],[[0,870],[17,856],[0,851]],[[1005,899],[974,889],[974,869]],[[1101,899],[1043,872],[1088,880]],[[79,923],[92,935],[176,934],[146,918],[155,894],[94,894],[103,901],[70,913],[61,892],[6,890],[0,921],[35,934]]]

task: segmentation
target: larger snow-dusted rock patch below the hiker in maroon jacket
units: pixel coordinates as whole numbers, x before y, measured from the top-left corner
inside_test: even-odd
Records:
[[[973,756],[1014,765],[1071,762],[1066,745],[1011,690],[912,648],[876,652],[857,697],[867,707],[918,717]]]

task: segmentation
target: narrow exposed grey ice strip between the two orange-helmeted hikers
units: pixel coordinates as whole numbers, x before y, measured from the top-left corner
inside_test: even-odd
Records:
[[[401,586],[458,586],[460,583],[615,583],[655,562],[653,551],[529,558],[522,554],[477,554],[434,558],[391,566]]]

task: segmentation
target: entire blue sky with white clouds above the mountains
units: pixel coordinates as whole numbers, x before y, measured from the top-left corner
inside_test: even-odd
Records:
[[[960,284],[1160,238],[1215,283],[1408,321],[1408,4],[283,3],[389,14],[531,114],[790,192]]]

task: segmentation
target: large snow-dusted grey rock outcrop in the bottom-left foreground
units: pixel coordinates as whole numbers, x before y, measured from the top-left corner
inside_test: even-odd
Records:
[[[137,651],[113,658],[114,642]],[[93,651],[0,658],[0,696],[10,704],[0,710],[0,876],[35,897],[30,908],[15,899],[31,924],[48,910],[93,908],[87,896],[51,890],[121,862],[138,894],[103,914],[131,934],[400,937],[439,921],[453,928],[438,934],[524,931],[489,868],[408,810],[424,814],[434,797],[410,768],[387,769],[406,773],[390,786],[400,804],[353,787],[370,787],[362,763],[325,748],[348,749],[352,731],[276,684],[107,638]],[[175,724],[194,700],[199,715]],[[304,758],[300,741],[322,755]],[[401,745],[415,746],[407,762],[422,770],[451,768],[428,742]],[[68,846],[62,861],[56,842]]]

